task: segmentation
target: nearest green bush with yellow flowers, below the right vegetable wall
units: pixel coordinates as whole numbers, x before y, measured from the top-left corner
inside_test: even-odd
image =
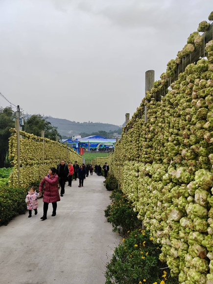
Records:
[[[106,264],[105,284],[178,284],[178,278],[171,278],[166,263],[159,260],[160,253],[149,232],[133,231]]]

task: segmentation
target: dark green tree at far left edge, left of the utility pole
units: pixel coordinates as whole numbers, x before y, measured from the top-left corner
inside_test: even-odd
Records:
[[[7,159],[10,128],[15,127],[15,114],[11,107],[0,108],[0,167],[10,166]]]

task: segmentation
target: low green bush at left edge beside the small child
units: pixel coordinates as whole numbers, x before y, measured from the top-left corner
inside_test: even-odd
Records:
[[[26,212],[26,189],[0,188],[0,226],[7,225],[18,214]]]

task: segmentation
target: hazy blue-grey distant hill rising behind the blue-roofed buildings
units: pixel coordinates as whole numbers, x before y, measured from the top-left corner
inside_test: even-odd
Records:
[[[100,123],[100,122],[76,122],[68,119],[61,118],[52,118],[47,117],[47,120],[53,125],[58,127],[58,132],[62,136],[72,136],[77,135],[79,133],[92,133],[100,130],[104,130],[106,132],[116,131],[121,127],[114,124],[109,123]]]

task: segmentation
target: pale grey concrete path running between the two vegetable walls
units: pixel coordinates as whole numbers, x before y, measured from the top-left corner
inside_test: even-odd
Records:
[[[105,263],[119,243],[103,210],[110,203],[110,191],[103,177],[66,184],[57,214],[47,220],[43,201],[38,214],[15,217],[0,227],[0,284],[104,284]],[[106,254],[109,256],[107,259]]]

